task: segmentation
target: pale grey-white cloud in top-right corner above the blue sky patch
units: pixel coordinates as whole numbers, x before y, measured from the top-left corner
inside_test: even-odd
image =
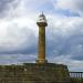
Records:
[[[82,15],[83,13],[83,1],[82,0],[56,0],[54,6],[58,9],[70,10],[76,14]]]

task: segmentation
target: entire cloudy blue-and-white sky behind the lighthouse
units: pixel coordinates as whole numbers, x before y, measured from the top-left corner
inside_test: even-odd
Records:
[[[35,62],[42,11],[48,61],[83,71],[83,0],[0,0],[0,64]]]

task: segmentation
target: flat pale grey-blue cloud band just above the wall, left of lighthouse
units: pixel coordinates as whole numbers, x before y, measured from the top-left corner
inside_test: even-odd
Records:
[[[0,54],[0,64],[22,64],[34,61],[35,54]]]

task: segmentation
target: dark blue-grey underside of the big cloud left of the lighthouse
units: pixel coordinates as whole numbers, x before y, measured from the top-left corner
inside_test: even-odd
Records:
[[[24,42],[27,43],[27,42]],[[28,43],[27,43],[28,44]],[[0,51],[0,54],[35,54],[37,53],[37,45],[34,45],[35,43],[32,43],[33,45],[29,46],[25,45],[25,48],[22,48],[21,49],[15,49],[15,50],[3,50],[3,51]]]

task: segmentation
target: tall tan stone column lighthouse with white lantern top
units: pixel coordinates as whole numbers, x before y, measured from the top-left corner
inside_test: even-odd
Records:
[[[45,27],[48,27],[48,23],[46,18],[43,13],[39,15],[37,24],[39,27],[37,63],[46,63],[48,61],[45,60]]]

